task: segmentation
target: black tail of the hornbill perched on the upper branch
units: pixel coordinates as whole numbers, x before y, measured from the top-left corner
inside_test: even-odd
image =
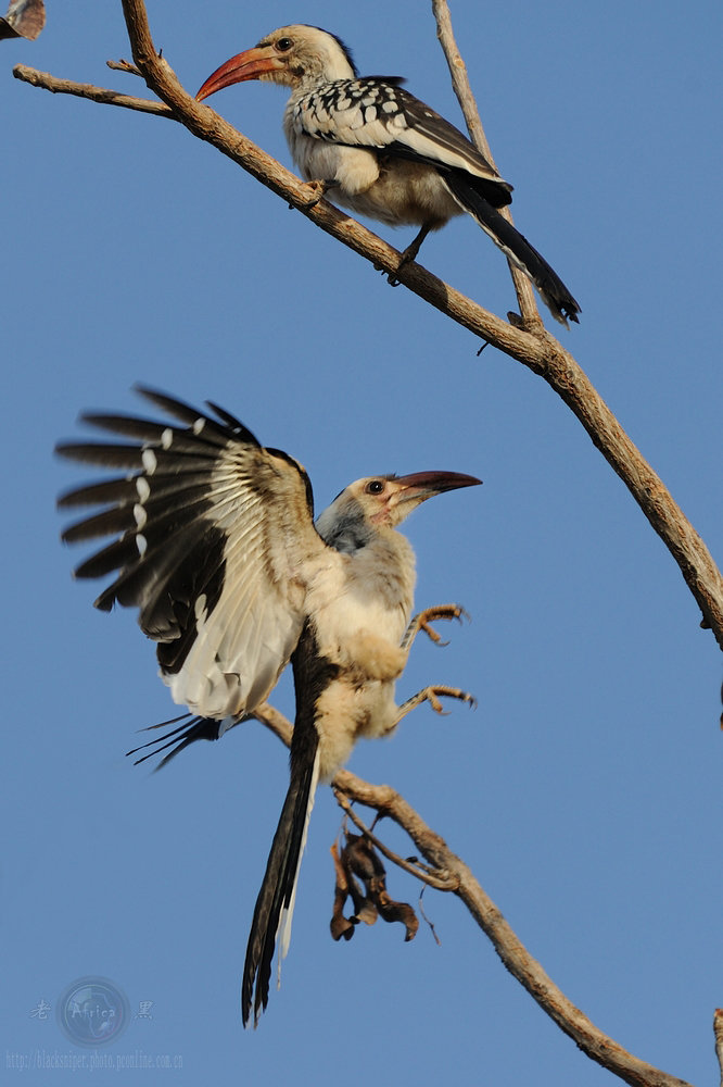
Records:
[[[578,302],[545,258],[499,214],[496,208],[480,196],[468,175],[453,170],[443,176],[457,202],[478,221],[505,255],[530,276],[555,320],[566,326],[568,318],[578,321],[580,313]]]

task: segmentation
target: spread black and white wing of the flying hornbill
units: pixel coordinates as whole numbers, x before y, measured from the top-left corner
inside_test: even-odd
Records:
[[[63,509],[102,509],[62,538],[119,534],[76,577],[117,572],[96,607],[139,609],[174,701],[201,717],[238,717],[266,698],[289,662],[307,577],[327,550],[314,528],[308,477],[215,404],[211,415],[138,391],[185,425],[83,415],[135,441],[63,442],[58,452],[130,474],[63,495]]]

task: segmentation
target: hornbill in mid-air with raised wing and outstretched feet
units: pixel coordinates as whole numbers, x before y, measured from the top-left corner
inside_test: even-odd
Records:
[[[253,715],[286,665],[293,669],[291,780],[243,971],[243,1023],[253,1008],[255,1025],[277,937],[280,958],[288,949],[317,782],[333,776],[360,737],[389,735],[421,702],[436,711],[441,696],[473,702],[442,686],[394,701],[418,632],[437,640],[430,624],[461,615],[447,604],[411,617],[415,558],[396,526],[431,496],[480,480],[455,472],[370,476],[315,522],[308,476],[288,453],[261,446],[214,403],[203,412],[138,391],[177,422],[86,413],[83,422],[132,440],[56,447],[72,460],[127,472],[59,499],[63,509],[101,507],[66,528],[65,541],[116,537],[76,577],[117,572],[96,607],[138,608],[174,701],[195,715],[170,734],[179,748]]]

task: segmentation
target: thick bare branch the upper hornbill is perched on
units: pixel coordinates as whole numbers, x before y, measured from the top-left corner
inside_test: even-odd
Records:
[[[580,420],[594,445],[620,476],[650,525],[678,564],[683,577],[702,612],[703,627],[713,630],[723,649],[723,578],[706,545],[673,500],[659,476],[624,433],[584,372],[562,345],[543,327],[538,317],[517,327],[466,298],[421,265],[399,268],[401,253],[360,223],[325,200],[309,207],[308,188],[270,155],[195,101],[180,85],[165,59],[153,47],[143,0],[123,0],[134,61],[148,86],[165,108],[116,91],[55,79],[24,65],[14,68],[18,79],[60,93],[158,116],[183,124],[199,139],[212,143],[257,180],[301,211],[327,234],[366,258],[376,267],[391,272],[409,290],[435,307],[475,336],[504,351],[543,377]],[[437,5],[441,10],[441,5]],[[457,70],[459,64],[451,64]]]

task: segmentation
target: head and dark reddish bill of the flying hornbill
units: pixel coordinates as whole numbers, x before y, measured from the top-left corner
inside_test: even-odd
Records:
[[[414,472],[368,476],[350,484],[316,522],[319,535],[339,551],[355,551],[384,528],[396,528],[421,502],[445,490],[482,483],[460,472]]]

